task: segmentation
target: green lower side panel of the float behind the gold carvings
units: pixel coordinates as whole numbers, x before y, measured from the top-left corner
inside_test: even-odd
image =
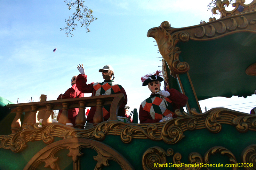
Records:
[[[249,145],[256,144],[256,132],[249,130],[246,133],[239,133],[235,127],[231,125],[222,124],[222,130],[217,133],[211,133],[207,129],[199,129],[194,131],[185,131],[184,138],[176,144],[167,144],[164,141],[153,141],[150,139],[132,139],[130,144],[125,144],[122,142],[120,136],[107,135],[106,138],[101,141],[104,144],[114,148],[117,152],[122,154],[136,170],[141,170],[142,168],[142,157],[144,152],[150,147],[158,146],[167,151],[167,149],[172,148],[174,154],[179,152],[181,154],[180,162],[189,164],[188,155],[192,152],[198,152],[202,157],[204,154],[215,146],[221,146],[227,148],[232,152],[237,160],[241,163],[241,153]],[[55,137],[55,142],[61,140],[61,138]],[[43,141],[28,142],[28,148],[20,153],[14,153],[11,150],[6,150],[0,148],[0,167],[1,170],[20,170],[28,163],[28,161],[41,149],[43,149],[46,144]],[[97,156],[97,152],[93,149],[83,148],[81,149],[83,155],[80,157],[81,170],[94,169],[96,161],[93,156]],[[67,156],[68,150],[62,149],[58,151],[55,156],[59,157],[58,163],[63,170],[68,170],[73,168],[73,161],[71,157]],[[173,163],[173,155],[166,156],[167,163]],[[15,164],[13,163],[15,162]],[[103,170],[115,169],[119,170],[120,166],[114,162],[108,162],[110,166],[104,167]],[[221,155],[216,153],[210,156],[211,164],[228,164],[229,159],[226,155]],[[50,170],[50,168],[44,168],[44,163],[39,166],[38,169]],[[165,168],[165,169],[175,169],[175,168]],[[218,168],[211,168],[215,170]],[[228,168],[223,168],[228,169]],[[243,168],[240,168],[241,170]]]

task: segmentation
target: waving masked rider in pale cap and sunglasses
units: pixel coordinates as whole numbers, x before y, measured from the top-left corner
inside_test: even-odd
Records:
[[[77,69],[79,70],[80,74],[77,76],[76,79],[76,86],[78,90],[83,93],[92,93],[92,96],[100,96],[100,95],[108,95],[108,94],[124,94],[124,101],[120,105],[118,110],[118,116],[125,116],[124,107],[127,104],[127,95],[124,88],[121,85],[118,85],[114,82],[114,69],[111,65],[105,65],[99,72],[102,73],[102,77],[104,81],[102,83],[87,83],[87,75],[84,72],[83,64],[77,65]],[[103,117],[104,121],[107,121],[110,117],[109,115],[110,106],[103,107]],[[93,127],[93,116],[95,114],[96,107],[91,107],[91,110],[86,118],[86,126],[85,129],[90,129]]]

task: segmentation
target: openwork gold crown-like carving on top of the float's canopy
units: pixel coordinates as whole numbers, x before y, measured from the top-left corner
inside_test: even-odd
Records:
[[[216,0],[215,5],[216,7],[212,8],[212,13],[217,14],[217,10],[220,12],[220,18],[233,16],[239,13],[246,13],[255,11],[256,9],[256,0],[253,0],[250,4],[244,4],[245,0],[236,0],[236,3],[232,4],[235,7],[232,11],[226,11],[225,5],[228,7],[229,1],[228,0]],[[239,11],[238,7],[243,8],[243,11]]]

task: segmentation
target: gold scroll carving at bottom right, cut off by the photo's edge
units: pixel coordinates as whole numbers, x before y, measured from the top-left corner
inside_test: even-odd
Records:
[[[252,167],[244,167],[246,170],[256,169],[256,144],[246,147],[241,154],[242,163],[252,163]]]

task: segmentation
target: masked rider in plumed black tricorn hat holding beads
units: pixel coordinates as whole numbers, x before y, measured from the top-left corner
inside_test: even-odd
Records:
[[[160,77],[161,71],[156,71],[152,75],[141,77],[142,86],[148,85],[151,95],[140,105],[139,119],[140,123],[156,123],[172,119],[174,111],[177,108],[184,107],[188,97],[176,89],[161,91],[161,83],[164,81]]]

